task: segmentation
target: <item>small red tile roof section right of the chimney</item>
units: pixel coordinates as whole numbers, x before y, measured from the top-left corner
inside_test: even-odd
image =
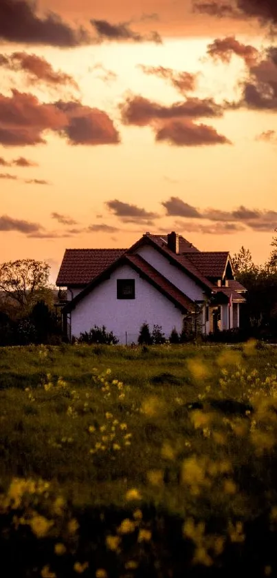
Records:
[[[228,251],[198,251],[185,254],[205,277],[222,278],[228,260]]]

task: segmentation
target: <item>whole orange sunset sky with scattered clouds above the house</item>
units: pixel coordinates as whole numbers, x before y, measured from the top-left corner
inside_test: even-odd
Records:
[[[265,262],[276,0],[0,0],[0,262],[175,230]]]

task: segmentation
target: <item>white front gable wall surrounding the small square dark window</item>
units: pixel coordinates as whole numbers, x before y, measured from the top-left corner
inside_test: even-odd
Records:
[[[117,299],[117,279],[135,279],[135,299]],[[137,342],[142,323],[162,326],[166,337],[173,327],[180,332],[183,315],[172,302],[129,265],[122,265],[111,273],[71,311],[71,336],[78,338],[83,331],[94,325],[105,325],[118,337],[120,343]]]

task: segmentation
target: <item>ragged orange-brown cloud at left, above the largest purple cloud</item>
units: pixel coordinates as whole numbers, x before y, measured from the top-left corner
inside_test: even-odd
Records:
[[[43,82],[49,86],[71,86],[79,90],[78,84],[70,74],[61,70],[55,71],[43,56],[27,54],[27,52],[13,52],[9,56],[4,56],[2,65],[13,72],[25,72],[28,81],[32,84]]]

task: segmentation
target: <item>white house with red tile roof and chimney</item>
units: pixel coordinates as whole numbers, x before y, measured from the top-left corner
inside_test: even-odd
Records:
[[[146,233],[129,249],[67,249],[58,287],[69,338],[94,325],[120,343],[137,342],[142,323],[208,334],[239,327],[245,287],[234,278],[228,251],[199,251],[173,231]]]

